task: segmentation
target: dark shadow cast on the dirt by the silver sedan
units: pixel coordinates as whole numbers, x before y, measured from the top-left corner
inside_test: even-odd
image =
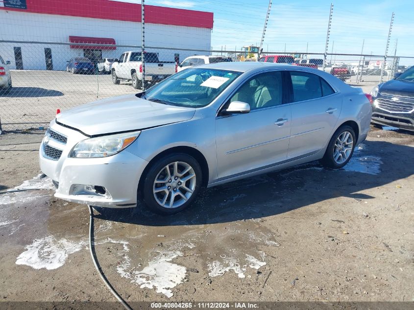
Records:
[[[225,223],[278,215],[336,197],[368,200],[374,197],[361,191],[414,174],[413,147],[372,141],[366,141],[365,147],[353,160],[370,165],[369,158],[378,158],[378,174],[331,170],[314,162],[206,189],[190,209],[178,215],[154,215],[144,207],[96,208],[97,217],[149,226]]]

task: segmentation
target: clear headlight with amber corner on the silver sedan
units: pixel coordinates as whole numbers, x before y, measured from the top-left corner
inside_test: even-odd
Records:
[[[83,140],[75,145],[71,157],[97,158],[115,155],[133,143],[140,133],[141,131],[135,131]]]

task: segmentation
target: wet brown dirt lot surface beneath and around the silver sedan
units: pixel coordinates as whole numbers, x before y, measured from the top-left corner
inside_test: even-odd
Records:
[[[86,206],[36,177],[42,132],[0,136],[0,300],[114,301]],[[21,144],[17,144],[21,143]],[[98,209],[102,270],[131,301],[414,301],[414,135],[372,128],[342,170],[317,163],[205,190],[160,217]]]

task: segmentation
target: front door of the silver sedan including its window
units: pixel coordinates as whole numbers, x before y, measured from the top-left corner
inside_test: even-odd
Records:
[[[282,72],[259,73],[247,80],[224,105],[242,101],[246,114],[218,116],[218,177],[227,178],[286,160],[291,134],[291,106],[283,94]]]

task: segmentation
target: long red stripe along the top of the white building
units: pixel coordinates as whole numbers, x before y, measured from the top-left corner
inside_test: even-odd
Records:
[[[26,0],[27,9],[0,7],[2,10],[89,17],[114,21],[141,22],[141,4],[111,0]],[[146,5],[145,22],[213,28],[213,13]]]

